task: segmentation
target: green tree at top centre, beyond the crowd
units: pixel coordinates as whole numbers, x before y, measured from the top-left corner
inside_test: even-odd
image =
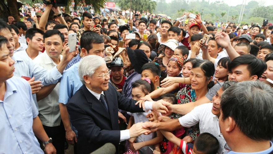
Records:
[[[130,0],[119,0],[117,4],[122,10],[130,9]],[[157,2],[151,0],[132,0],[131,9],[140,12],[153,12],[156,8],[156,5]]]

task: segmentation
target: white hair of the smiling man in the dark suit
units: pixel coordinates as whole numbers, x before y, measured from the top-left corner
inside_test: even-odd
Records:
[[[98,67],[103,65],[105,63],[104,58],[96,55],[89,55],[84,57],[78,66],[78,74],[80,77],[80,80],[83,84],[85,84],[83,76],[87,75],[89,77],[92,77],[94,72]]]

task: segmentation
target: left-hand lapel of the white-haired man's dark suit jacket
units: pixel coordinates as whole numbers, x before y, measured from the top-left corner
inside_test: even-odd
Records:
[[[92,104],[92,109],[104,116],[105,118],[110,119],[110,115],[107,113],[105,107],[101,104],[101,101],[98,100],[93,94],[91,94],[85,85],[83,85],[82,88],[87,102]],[[109,106],[108,109],[110,109]]]

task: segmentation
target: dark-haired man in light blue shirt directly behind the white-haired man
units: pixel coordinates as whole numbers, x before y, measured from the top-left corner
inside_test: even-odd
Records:
[[[84,31],[81,36],[81,53],[83,57],[87,55],[98,55],[104,56],[104,40],[95,32]],[[92,62],[91,62],[92,63]],[[69,144],[75,145],[74,141],[77,141],[76,134],[77,130],[72,129],[70,126],[69,114],[66,109],[66,104],[70,98],[75,94],[76,91],[83,85],[78,75],[78,63],[72,65],[69,69],[65,70],[60,82],[60,93],[59,93],[59,106],[61,119],[65,126],[66,139]],[[74,151],[75,151],[74,147]]]

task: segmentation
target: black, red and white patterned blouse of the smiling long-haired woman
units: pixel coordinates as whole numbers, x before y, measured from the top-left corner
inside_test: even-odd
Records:
[[[194,98],[194,96],[193,96],[195,94],[195,92],[191,88],[191,85],[179,84],[179,87],[182,88],[182,89],[177,92],[177,95],[176,95],[177,104],[185,104],[185,103],[195,101],[196,98]],[[173,113],[169,117],[171,119],[178,119],[178,118],[180,118],[182,116],[184,116],[184,115]],[[196,137],[200,134],[199,123],[192,126],[192,127],[190,127],[190,128],[187,128],[187,130],[188,130],[188,135],[194,141],[196,139]]]

